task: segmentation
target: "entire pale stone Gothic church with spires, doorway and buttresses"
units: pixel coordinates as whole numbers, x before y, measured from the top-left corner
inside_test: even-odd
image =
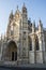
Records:
[[[27,8],[11,12],[6,37],[0,40],[0,61],[3,64],[46,64],[46,29],[42,20],[28,19]]]

